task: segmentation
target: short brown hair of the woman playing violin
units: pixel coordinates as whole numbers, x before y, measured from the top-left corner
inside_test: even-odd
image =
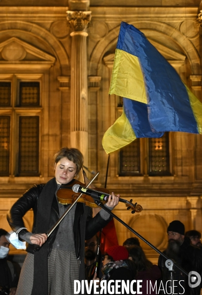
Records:
[[[76,164],[76,175],[79,174],[83,166],[83,155],[77,148],[61,148],[55,154],[55,163],[57,164],[62,158],[67,158],[69,161],[72,161]]]

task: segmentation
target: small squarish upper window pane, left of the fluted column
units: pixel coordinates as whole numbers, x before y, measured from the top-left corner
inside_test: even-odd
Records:
[[[20,106],[39,106],[40,83],[20,82]]]

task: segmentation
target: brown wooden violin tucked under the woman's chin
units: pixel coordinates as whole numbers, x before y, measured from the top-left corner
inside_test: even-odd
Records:
[[[79,184],[81,186],[86,186],[86,184],[80,182],[77,179],[72,179],[69,183],[67,184],[62,184],[60,189],[57,192],[57,198],[58,198],[58,202],[63,204],[63,205],[68,205],[68,204],[72,204],[76,198],[80,195],[80,193],[75,193],[72,191],[72,187],[74,184]],[[94,189],[95,191],[100,191],[103,192],[105,194],[109,194],[108,189],[106,188],[97,188],[95,187]],[[82,195],[82,197],[80,197],[80,199],[77,201],[80,203],[84,203],[86,206],[95,208],[98,207],[95,204],[94,199],[91,196],[87,196],[87,195]],[[101,203],[105,204],[107,201],[101,201]],[[127,210],[132,209],[132,213],[135,212],[141,212],[142,211],[142,207],[141,205],[137,205],[137,203],[133,204],[133,200],[131,199],[130,202],[125,200],[125,199],[121,199],[119,198],[119,202],[125,203]]]

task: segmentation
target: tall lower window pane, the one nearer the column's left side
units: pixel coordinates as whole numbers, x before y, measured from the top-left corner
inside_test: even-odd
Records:
[[[19,118],[18,175],[38,174],[39,117]]]

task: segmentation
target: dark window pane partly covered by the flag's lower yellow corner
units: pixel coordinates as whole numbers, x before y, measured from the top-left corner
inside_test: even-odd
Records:
[[[139,139],[120,151],[120,176],[134,176],[140,174]]]

